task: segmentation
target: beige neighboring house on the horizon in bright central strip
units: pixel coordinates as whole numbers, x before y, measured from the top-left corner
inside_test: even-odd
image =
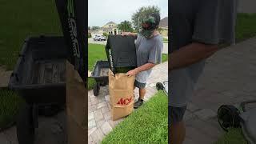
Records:
[[[118,24],[114,22],[107,22],[106,25],[102,26],[98,30],[90,30],[89,33],[91,33],[91,36],[94,38],[94,35],[103,35],[103,33],[121,34],[122,30],[118,30]]]

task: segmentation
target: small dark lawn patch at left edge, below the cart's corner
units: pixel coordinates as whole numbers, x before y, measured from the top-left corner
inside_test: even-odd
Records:
[[[0,90],[0,129],[15,121],[21,102],[22,98],[13,91]]]

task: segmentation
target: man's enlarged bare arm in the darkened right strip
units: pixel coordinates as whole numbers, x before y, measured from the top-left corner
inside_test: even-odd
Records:
[[[209,58],[218,50],[217,45],[206,45],[199,42],[193,42],[183,46],[169,55],[169,70],[175,70],[190,66],[202,59]]]

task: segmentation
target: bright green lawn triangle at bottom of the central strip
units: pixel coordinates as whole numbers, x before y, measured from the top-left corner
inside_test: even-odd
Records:
[[[167,96],[159,91],[153,98],[118,124],[102,140],[109,143],[168,143]]]

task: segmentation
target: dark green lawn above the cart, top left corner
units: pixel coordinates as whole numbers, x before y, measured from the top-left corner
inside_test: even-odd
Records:
[[[62,34],[54,0],[2,0],[0,10],[0,66],[8,70],[14,69],[26,37]]]

